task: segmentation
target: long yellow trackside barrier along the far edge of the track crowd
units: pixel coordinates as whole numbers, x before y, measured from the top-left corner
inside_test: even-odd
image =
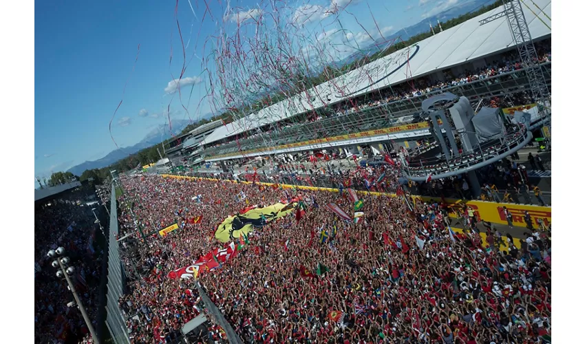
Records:
[[[161,174],[163,178],[174,178],[174,179],[187,179],[187,180],[209,180],[209,181],[219,181],[216,178],[202,178],[202,177],[189,177],[184,175],[169,175],[169,174]],[[224,180],[224,182],[232,182],[232,183],[242,183],[242,184],[252,184],[252,182],[235,182],[233,180]],[[270,186],[275,183],[264,183],[264,182],[256,182],[256,184]],[[317,187],[317,186],[304,186],[304,185],[290,185],[290,184],[278,184],[282,186],[284,189],[299,189],[299,190],[311,190],[311,191],[330,191],[330,192],[339,192],[339,189],[332,189],[326,187]],[[368,194],[368,191],[357,191],[357,193],[361,194]],[[396,197],[395,193],[380,193],[380,192],[369,192],[371,195],[381,196],[385,195],[388,197]],[[428,196],[418,196],[418,195],[411,195],[412,202],[416,204],[416,202],[430,202],[431,200],[440,201],[440,197],[428,197]],[[504,206],[507,210],[512,214],[512,222],[514,226],[525,227],[526,223],[524,222],[524,212],[528,211],[533,225],[538,227],[537,220],[538,219],[546,219],[549,224],[552,224],[552,209],[550,206],[530,206],[525,204],[512,204],[512,203],[496,203],[496,202],[484,202],[484,201],[464,201],[454,198],[446,198],[445,201],[447,204],[451,205],[452,209],[463,208],[463,205],[469,206],[474,209],[474,215],[478,216],[479,219],[482,219],[487,222],[492,222],[494,224],[508,224],[506,217],[504,216]],[[454,212],[449,213],[449,216],[456,217]]]

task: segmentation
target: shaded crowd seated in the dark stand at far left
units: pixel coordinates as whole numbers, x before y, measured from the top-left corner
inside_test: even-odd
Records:
[[[71,277],[89,318],[97,325],[102,252],[92,206],[78,201],[92,198],[87,191],[70,191],[56,200],[39,201],[34,213],[34,338],[35,343],[92,343],[89,330],[67,282],[56,277],[49,250],[65,248]],[[99,214],[100,209],[96,209]],[[103,239],[103,237],[102,237]]]

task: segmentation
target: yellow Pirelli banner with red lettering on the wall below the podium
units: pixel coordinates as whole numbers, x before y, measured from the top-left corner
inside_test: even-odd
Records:
[[[432,197],[419,197],[425,202],[428,202]],[[436,197],[434,197],[436,200]],[[447,198],[446,200],[451,204],[453,210],[463,209],[462,200],[453,200]],[[474,216],[480,220],[492,222],[494,224],[508,224],[506,216],[504,215],[504,206],[512,214],[512,222],[514,226],[526,227],[524,222],[524,212],[528,211],[533,221],[533,226],[538,226],[538,219],[546,219],[549,224],[552,223],[552,210],[549,206],[529,206],[524,204],[511,204],[511,203],[496,203],[496,202],[483,202],[483,201],[469,201],[465,203],[466,207],[471,207],[474,210]],[[455,212],[449,213],[449,216],[456,217]]]

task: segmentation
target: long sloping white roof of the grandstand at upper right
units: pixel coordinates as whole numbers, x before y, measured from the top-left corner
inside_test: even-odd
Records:
[[[538,5],[526,8],[522,4],[526,22],[533,39],[551,34],[551,30],[538,19],[542,12],[551,17],[551,0],[533,0]],[[424,76],[442,69],[471,62],[477,58],[496,54],[513,47],[514,42],[506,17],[501,17],[485,25],[479,21],[502,12],[500,6],[490,12],[469,19],[454,28],[439,32],[403,50],[379,58],[368,65],[354,69],[334,80],[317,85],[307,94],[297,94],[279,103],[261,109],[228,125],[218,127],[200,143],[209,144],[234,136],[257,127],[284,120],[309,111],[312,108],[337,103],[340,100],[360,96],[389,85],[403,83],[412,78]],[[534,12],[532,12],[534,11]],[[368,76],[365,76],[367,73]],[[319,95],[319,97],[317,97]],[[309,99],[308,97],[312,98]]]

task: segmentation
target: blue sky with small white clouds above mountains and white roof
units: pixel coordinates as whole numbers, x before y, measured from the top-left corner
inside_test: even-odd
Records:
[[[183,104],[193,120],[212,110],[207,98],[200,102],[209,80],[202,74],[199,58],[209,56],[218,34],[236,32],[237,18],[249,23],[251,17],[271,13],[281,21],[303,21],[300,31],[323,38],[333,28],[334,16],[327,13],[337,8],[336,18],[346,36],[365,44],[369,35],[364,28],[374,38],[379,32],[376,24],[383,34],[392,34],[458,2],[463,0],[279,1],[279,10],[274,11],[268,1],[191,0],[192,11],[188,0],[180,0],[177,19],[184,45],[189,42],[187,60],[195,54],[182,77],[182,89],[190,91],[195,84],[191,103],[187,105],[188,92],[182,92]],[[169,84],[178,78],[183,64],[175,1],[37,1],[35,5],[35,175],[48,177],[51,171],[65,171],[115,149],[108,124],[120,99],[123,104],[111,125],[120,147],[136,144],[153,127],[164,124],[169,105],[171,118],[187,119],[178,94],[172,94],[175,84]],[[206,13],[208,6],[211,15]],[[138,44],[140,55],[132,72]],[[213,61],[205,66],[215,77]]]

